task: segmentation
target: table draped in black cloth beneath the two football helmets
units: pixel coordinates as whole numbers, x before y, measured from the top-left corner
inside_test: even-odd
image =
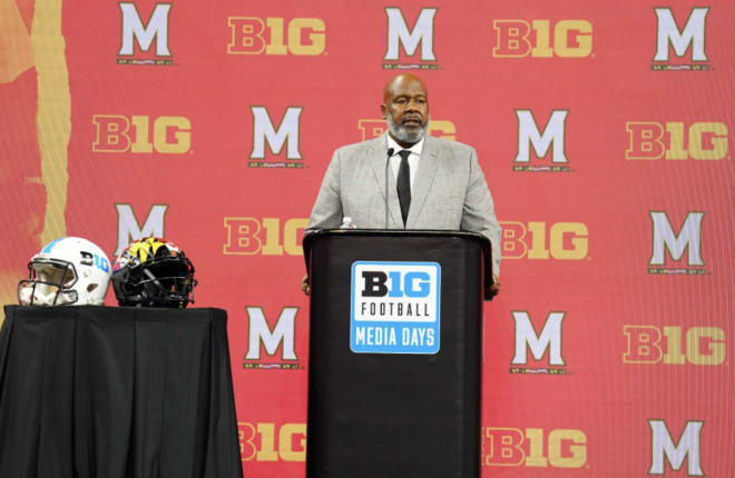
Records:
[[[0,477],[243,476],[224,310],[4,312]]]

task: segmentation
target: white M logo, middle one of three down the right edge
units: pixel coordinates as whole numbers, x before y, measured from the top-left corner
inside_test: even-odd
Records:
[[[666,211],[649,211],[649,215],[653,252],[648,261],[648,273],[706,275],[707,269],[702,259],[702,221],[704,212],[687,212],[678,233],[675,232]],[[686,259],[684,259],[685,251],[687,251]]]

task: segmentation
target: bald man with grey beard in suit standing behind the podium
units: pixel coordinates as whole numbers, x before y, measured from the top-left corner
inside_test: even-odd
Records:
[[[489,287],[498,293],[500,225],[474,149],[427,135],[429,92],[413,74],[385,84],[380,110],[386,135],[334,152],[307,230],[339,228],[350,217],[360,229],[480,232],[492,243]],[[308,293],[306,278],[302,288]]]

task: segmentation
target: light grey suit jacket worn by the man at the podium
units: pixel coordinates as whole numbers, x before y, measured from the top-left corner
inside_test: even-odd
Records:
[[[385,136],[334,151],[310,229],[334,229],[349,216],[359,229],[404,229]],[[480,232],[492,242],[493,272],[500,272],[500,225],[474,148],[428,136],[411,190],[405,229]]]

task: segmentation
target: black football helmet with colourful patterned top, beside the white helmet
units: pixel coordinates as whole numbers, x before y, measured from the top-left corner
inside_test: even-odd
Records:
[[[194,303],[194,265],[174,242],[139,239],[120,253],[112,288],[122,307],[185,308]]]

